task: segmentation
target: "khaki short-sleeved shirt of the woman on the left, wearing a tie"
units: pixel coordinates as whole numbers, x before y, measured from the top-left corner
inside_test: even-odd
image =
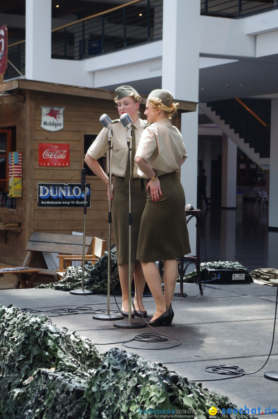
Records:
[[[139,145],[141,134],[146,126],[147,121],[138,118],[134,123],[136,150]],[[119,177],[125,177],[126,165],[128,161],[128,146],[126,134],[120,120],[112,124],[113,140],[112,140],[112,174]],[[95,160],[105,155],[109,150],[108,145],[108,128],[103,128],[96,137],[93,144],[88,149],[88,154]],[[108,152],[109,155],[109,152]],[[137,172],[138,167],[134,164],[133,178],[139,178]]]

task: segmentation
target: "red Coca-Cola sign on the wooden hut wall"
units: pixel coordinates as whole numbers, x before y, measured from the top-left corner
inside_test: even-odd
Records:
[[[68,167],[69,144],[39,144],[39,166]]]

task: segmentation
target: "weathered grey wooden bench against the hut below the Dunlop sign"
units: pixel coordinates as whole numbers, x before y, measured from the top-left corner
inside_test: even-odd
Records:
[[[92,252],[93,237],[85,238],[85,254]],[[63,255],[80,255],[83,253],[83,236],[56,233],[32,233],[26,246],[27,254],[22,266],[29,266],[34,252],[62,253]],[[31,266],[30,266],[31,267]],[[52,280],[61,279],[57,275],[57,269],[39,269],[39,275],[52,277]]]

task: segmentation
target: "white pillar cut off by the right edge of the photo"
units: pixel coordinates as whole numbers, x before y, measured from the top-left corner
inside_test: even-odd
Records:
[[[270,127],[270,182],[269,182],[269,218],[268,226],[278,228],[278,99],[271,101]]]

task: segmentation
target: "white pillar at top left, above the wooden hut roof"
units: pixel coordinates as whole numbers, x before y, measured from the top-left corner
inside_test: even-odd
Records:
[[[26,78],[41,80],[40,68],[51,59],[51,0],[26,0]]]

